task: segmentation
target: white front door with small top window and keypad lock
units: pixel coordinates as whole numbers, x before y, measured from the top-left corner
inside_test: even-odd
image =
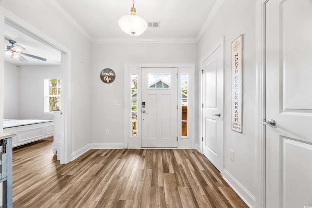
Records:
[[[142,68],[142,147],[177,147],[177,68]]]

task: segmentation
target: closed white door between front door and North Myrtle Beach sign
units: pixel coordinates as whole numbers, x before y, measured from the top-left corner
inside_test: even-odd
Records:
[[[223,39],[203,60],[203,154],[223,169]]]

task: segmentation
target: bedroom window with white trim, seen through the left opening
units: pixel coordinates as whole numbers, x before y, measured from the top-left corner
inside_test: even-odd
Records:
[[[44,79],[44,113],[60,110],[60,79]]]

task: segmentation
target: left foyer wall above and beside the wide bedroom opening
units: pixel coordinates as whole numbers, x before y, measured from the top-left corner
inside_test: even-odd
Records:
[[[44,34],[49,40],[57,42],[71,52],[69,61],[72,70],[70,75],[72,96],[69,98],[71,106],[68,111],[71,111],[72,115],[72,124],[69,127],[72,134],[69,154],[78,151],[90,141],[90,42],[45,0],[0,1],[0,6],[4,8],[3,15],[7,15],[7,10],[13,14],[8,16],[18,19],[21,24],[27,23],[36,28],[40,34]]]

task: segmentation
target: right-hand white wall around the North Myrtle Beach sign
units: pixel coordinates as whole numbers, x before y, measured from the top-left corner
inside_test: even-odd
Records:
[[[231,43],[244,34],[243,133],[231,130]],[[249,203],[255,205],[255,0],[226,0],[198,43],[198,64],[224,37],[224,177]],[[200,73],[197,71],[198,82]],[[200,86],[197,85],[199,91]],[[200,100],[200,97],[197,98]],[[199,110],[199,109],[197,109]],[[198,113],[198,111],[197,111]],[[199,119],[198,119],[199,120]],[[196,125],[198,126],[198,125]],[[199,132],[199,130],[197,130]],[[199,140],[196,141],[198,144]],[[229,151],[234,151],[234,162]]]

